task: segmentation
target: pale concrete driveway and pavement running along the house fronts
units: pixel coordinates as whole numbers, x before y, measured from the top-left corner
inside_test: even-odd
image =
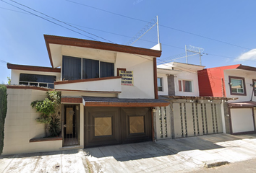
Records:
[[[0,172],[191,172],[256,159],[256,135],[216,134],[0,157]]]

